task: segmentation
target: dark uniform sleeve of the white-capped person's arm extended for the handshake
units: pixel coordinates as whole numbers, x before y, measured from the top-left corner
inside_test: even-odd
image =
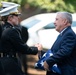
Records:
[[[28,47],[26,44],[24,44],[20,33],[16,29],[12,29],[9,36],[10,42],[17,52],[21,52],[24,54],[38,53],[38,49],[36,47]]]

